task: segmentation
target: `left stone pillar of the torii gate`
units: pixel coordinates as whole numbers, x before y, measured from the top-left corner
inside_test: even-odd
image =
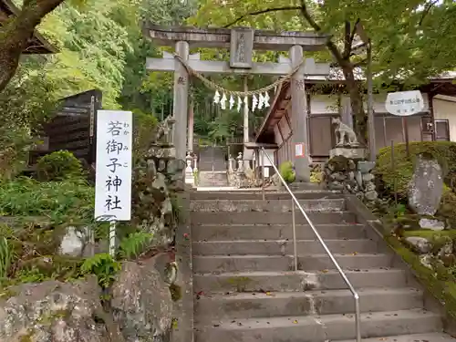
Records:
[[[176,43],[176,53],[184,61],[189,58],[189,43],[178,41]],[[181,65],[177,59],[174,60],[174,96],[172,115],[176,119],[174,124],[174,144],[176,146],[176,158],[185,161],[185,151],[187,150],[187,114],[188,114],[188,91],[189,75],[187,69]]]

